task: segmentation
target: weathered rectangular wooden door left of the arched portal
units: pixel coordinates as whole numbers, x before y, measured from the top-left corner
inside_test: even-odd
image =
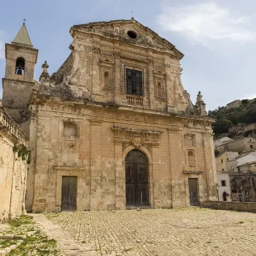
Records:
[[[61,211],[76,210],[76,176],[62,176]]]

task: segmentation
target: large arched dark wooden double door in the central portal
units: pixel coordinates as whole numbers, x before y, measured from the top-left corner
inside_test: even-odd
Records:
[[[143,152],[131,150],[125,157],[126,205],[149,205],[148,161]]]

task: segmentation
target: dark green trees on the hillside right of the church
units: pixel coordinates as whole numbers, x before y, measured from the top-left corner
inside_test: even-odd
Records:
[[[210,110],[208,116],[215,119],[212,125],[215,134],[228,132],[228,128],[232,125],[256,123],[256,99],[242,100],[239,108],[219,107],[213,111]]]

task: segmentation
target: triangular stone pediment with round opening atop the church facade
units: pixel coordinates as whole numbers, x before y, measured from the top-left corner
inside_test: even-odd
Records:
[[[184,54],[175,48],[175,45],[161,38],[152,29],[143,26],[135,19],[131,20],[111,20],[109,22],[91,22],[73,26],[70,33],[74,31],[84,31],[121,40],[126,43],[143,45],[144,47],[152,47],[159,51],[168,51],[181,59]]]

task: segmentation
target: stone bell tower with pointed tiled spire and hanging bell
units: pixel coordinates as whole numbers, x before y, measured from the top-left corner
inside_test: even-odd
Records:
[[[38,50],[33,48],[25,19],[12,44],[5,44],[6,68],[3,78],[3,106],[12,118],[26,107],[35,86],[34,69]]]

